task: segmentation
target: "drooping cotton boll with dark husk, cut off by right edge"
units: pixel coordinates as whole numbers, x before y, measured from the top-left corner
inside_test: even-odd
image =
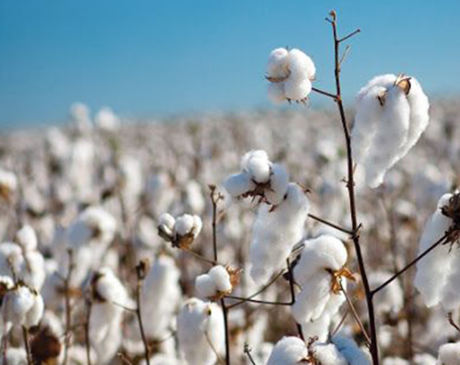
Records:
[[[450,232],[447,242],[436,246],[418,262],[414,279],[415,287],[428,307],[442,304],[449,312],[460,304],[460,251],[457,247],[459,217],[460,194],[444,194],[425,226],[419,252],[424,252]]]

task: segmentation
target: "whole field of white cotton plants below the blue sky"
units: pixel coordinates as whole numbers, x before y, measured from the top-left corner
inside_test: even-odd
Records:
[[[460,102],[391,74],[344,105],[329,22],[335,90],[269,55],[300,107],[0,137],[3,365],[460,364]]]

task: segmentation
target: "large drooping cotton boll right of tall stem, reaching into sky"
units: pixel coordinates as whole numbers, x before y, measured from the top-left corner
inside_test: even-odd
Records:
[[[428,111],[428,97],[411,76],[377,76],[360,90],[351,142],[367,185],[381,185],[386,172],[417,143],[428,126]]]

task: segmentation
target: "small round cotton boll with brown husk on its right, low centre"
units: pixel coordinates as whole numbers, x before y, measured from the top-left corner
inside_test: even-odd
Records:
[[[196,277],[195,289],[198,296],[215,301],[229,295],[239,280],[239,270],[216,265],[207,273]]]

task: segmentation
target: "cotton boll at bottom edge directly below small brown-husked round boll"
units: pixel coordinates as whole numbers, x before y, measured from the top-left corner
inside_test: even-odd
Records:
[[[224,348],[220,307],[199,299],[187,300],[177,317],[180,350],[188,365],[212,365]]]

